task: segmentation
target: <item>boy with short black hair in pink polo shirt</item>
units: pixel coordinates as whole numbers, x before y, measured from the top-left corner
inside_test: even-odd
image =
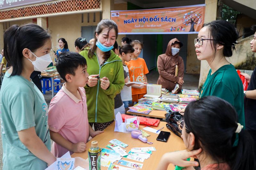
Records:
[[[60,55],[56,63],[60,77],[66,83],[52,98],[49,107],[48,125],[52,154],[61,157],[66,152],[84,152],[89,136],[103,131],[94,131],[88,123],[84,86],[88,82],[86,59],[75,52]]]

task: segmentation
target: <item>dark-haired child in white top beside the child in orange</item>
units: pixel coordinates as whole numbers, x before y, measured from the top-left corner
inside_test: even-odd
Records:
[[[135,51],[134,48],[132,48],[132,46],[130,44],[124,44],[119,50],[119,52],[121,54],[120,58],[123,62],[124,71],[127,73],[124,75],[125,83],[130,81],[129,69],[128,69],[127,65],[125,64],[125,62],[131,61],[131,57],[132,57],[134,51]],[[133,104],[132,104],[132,87],[130,87],[131,85],[133,85],[133,84],[124,85],[123,89],[121,90],[121,98],[124,103],[125,113],[129,110],[128,107],[133,106]]]

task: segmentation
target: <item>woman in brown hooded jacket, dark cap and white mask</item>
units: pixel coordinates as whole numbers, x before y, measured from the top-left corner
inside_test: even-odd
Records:
[[[162,85],[162,88],[172,91],[176,83],[178,83],[179,89],[173,93],[180,92],[184,83],[184,62],[179,56],[182,46],[183,44],[177,38],[174,38],[168,43],[165,54],[161,54],[157,58],[157,69],[159,72],[157,84]],[[178,76],[175,76],[176,65],[178,65]]]

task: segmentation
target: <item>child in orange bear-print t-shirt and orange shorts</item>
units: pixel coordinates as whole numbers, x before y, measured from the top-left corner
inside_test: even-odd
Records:
[[[143,58],[139,58],[141,50],[143,49],[143,43],[138,40],[131,42],[132,47],[135,49],[131,56],[130,62],[125,62],[130,74],[131,81],[145,82],[148,84],[146,74],[148,74],[148,68]],[[147,89],[144,85],[132,85],[132,101],[138,102],[138,99],[143,98],[147,93]]]

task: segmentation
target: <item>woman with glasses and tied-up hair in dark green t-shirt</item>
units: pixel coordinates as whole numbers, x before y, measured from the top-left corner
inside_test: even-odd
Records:
[[[232,56],[238,39],[233,24],[225,20],[205,23],[195,39],[196,55],[206,60],[211,69],[200,92],[204,96],[218,96],[236,108],[238,122],[245,128],[244,91],[235,67],[226,57]]]

